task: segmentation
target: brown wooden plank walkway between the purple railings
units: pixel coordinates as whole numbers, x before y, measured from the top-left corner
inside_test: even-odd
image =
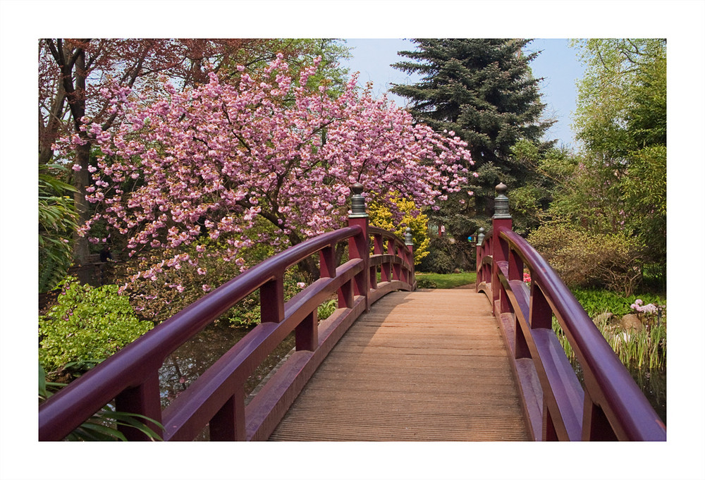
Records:
[[[529,438],[489,301],[431,290],[391,293],[357,319],[269,439]]]

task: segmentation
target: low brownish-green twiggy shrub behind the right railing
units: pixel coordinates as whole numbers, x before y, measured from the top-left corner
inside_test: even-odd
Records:
[[[594,235],[565,223],[546,223],[527,240],[569,288],[603,286],[631,295],[641,281],[644,245],[623,232]]]

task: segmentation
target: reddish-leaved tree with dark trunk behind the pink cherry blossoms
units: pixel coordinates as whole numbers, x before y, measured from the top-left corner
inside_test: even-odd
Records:
[[[77,135],[73,159],[82,168],[73,172],[74,204],[80,219],[89,217],[85,187],[90,185],[86,168],[90,161],[90,136],[80,130],[86,118],[110,130],[122,121],[100,92],[111,85],[128,87],[143,98],[158,96],[154,82],[168,75],[180,88],[208,82],[208,72],[228,74],[235,62],[261,65],[277,52],[297,59],[323,51],[342,54],[342,47],[326,39],[40,39],[39,40],[39,164],[55,158],[59,137]],[[75,242],[75,257],[82,261],[88,247]]]

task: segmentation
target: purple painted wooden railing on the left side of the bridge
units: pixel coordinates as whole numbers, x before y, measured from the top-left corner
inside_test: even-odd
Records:
[[[416,286],[410,235],[405,245],[393,233],[368,226],[362,185],[353,185],[353,192],[348,227],[266,259],[51,396],[39,407],[39,440],[61,440],[112,400],[116,410],[163,424],[166,441],[192,440],[206,425],[212,441],[266,440],[353,321],[386,293]],[[338,266],[336,245],[346,240],[350,260]],[[284,272],[314,254],[320,259],[319,280],[284,302]],[[162,411],[158,371],[164,359],[257,289],[262,322]],[[319,305],[335,293],[338,309],[319,323]],[[291,332],[295,332],[295,352],[245,406],[245,381]],[[149,426],[160,431],[154,424]],[[146,439],[136,429],[123,429],[123,433],[129,440]]]

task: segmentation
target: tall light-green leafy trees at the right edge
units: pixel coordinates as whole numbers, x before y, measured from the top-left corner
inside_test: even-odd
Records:
[[[575,214],[582,206],[594,231],[623,228],[665,273],[666,40],[576,44],[587,65],[575,116],[586,172],[558,195],[556,213]]]

